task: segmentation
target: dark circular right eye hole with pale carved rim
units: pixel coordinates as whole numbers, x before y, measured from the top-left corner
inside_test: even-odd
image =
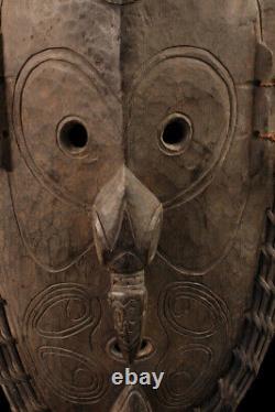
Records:
[[[191,135],[191,122],[186,116],[182,113],[169,115],[161,126],[161,149],[166,154],[182,154]]]

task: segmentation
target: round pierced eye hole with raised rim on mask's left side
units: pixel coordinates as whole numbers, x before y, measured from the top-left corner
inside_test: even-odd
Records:
[[[76,135],[76,133],[80,133]],[[63,153],[82,159],[88,155],[90,135],[85,121],[76,116],[67,116],[57,124],[56,142]]]

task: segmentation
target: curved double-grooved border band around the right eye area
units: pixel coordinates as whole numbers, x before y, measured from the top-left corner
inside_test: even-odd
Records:
[[[228,128],[227,133],[224,133],[224,139],[219,154],[215,156],[209,167],[207,167],[205,172],[201,173],[191,185],[189,185],[189,187],[186,187],[172,198],[164,199],[164,209],[176,208],[179,205],[190,202],[211,184],[216,171],[223,164],[227,159],[229,149],[235,134],[235,124],[238,120],[237,88],[232,74],[229,72],[228,67],[222,63],[222,61],[220,61],[220,58],[212,52],[194,46],[173,46],[164,48],[158,54],[154,55],[148,62],[146,62],[146,64],[143,65],[141,69],[136,72],[132,80],[131,94],[128,97],[130,107],[129,112],[132,117],[136,101],[140,101],[140,94],[147,76],[150,76],[153,71],[160,69],[160,65],[163,62],[167,62],[174,58],[187,58],[194,62],[202,63],[202,65],[208,67],[208,71],[210,69],[210,73],[213,73],[216,77],[222,82],[223,87],[226,86],[227,89],[227,102],[229,105],[229,110],[227,111]],[[157,147],[157,149],[160,150],[160,145]],[[129,143],[129,155],[131,155],[131,143]]]

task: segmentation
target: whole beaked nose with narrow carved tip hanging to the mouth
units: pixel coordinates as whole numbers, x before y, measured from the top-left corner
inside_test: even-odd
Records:
[[[100,263],[111,272],[114,329],[130,362],[142,343],[144,268],[155,256],[162,216],[162,204],[125,166],[102,187],[94,205],[95,245]]]

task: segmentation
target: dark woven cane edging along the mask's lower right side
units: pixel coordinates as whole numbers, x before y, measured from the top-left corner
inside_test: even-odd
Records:
[[[275,207],[274,207],[275,209]],[[213,398],[201,406],[201,412],[218,412],[222,408],[235,411],[249,387],[256,378],[275,330],[275,212],[267,210],[265,245],[260,256],[258,273],[253,292],[253,304],[244,321],[240,344],[233,350],[229,372],[220,379]],[[196,410],[194,410],[195,412]]]

